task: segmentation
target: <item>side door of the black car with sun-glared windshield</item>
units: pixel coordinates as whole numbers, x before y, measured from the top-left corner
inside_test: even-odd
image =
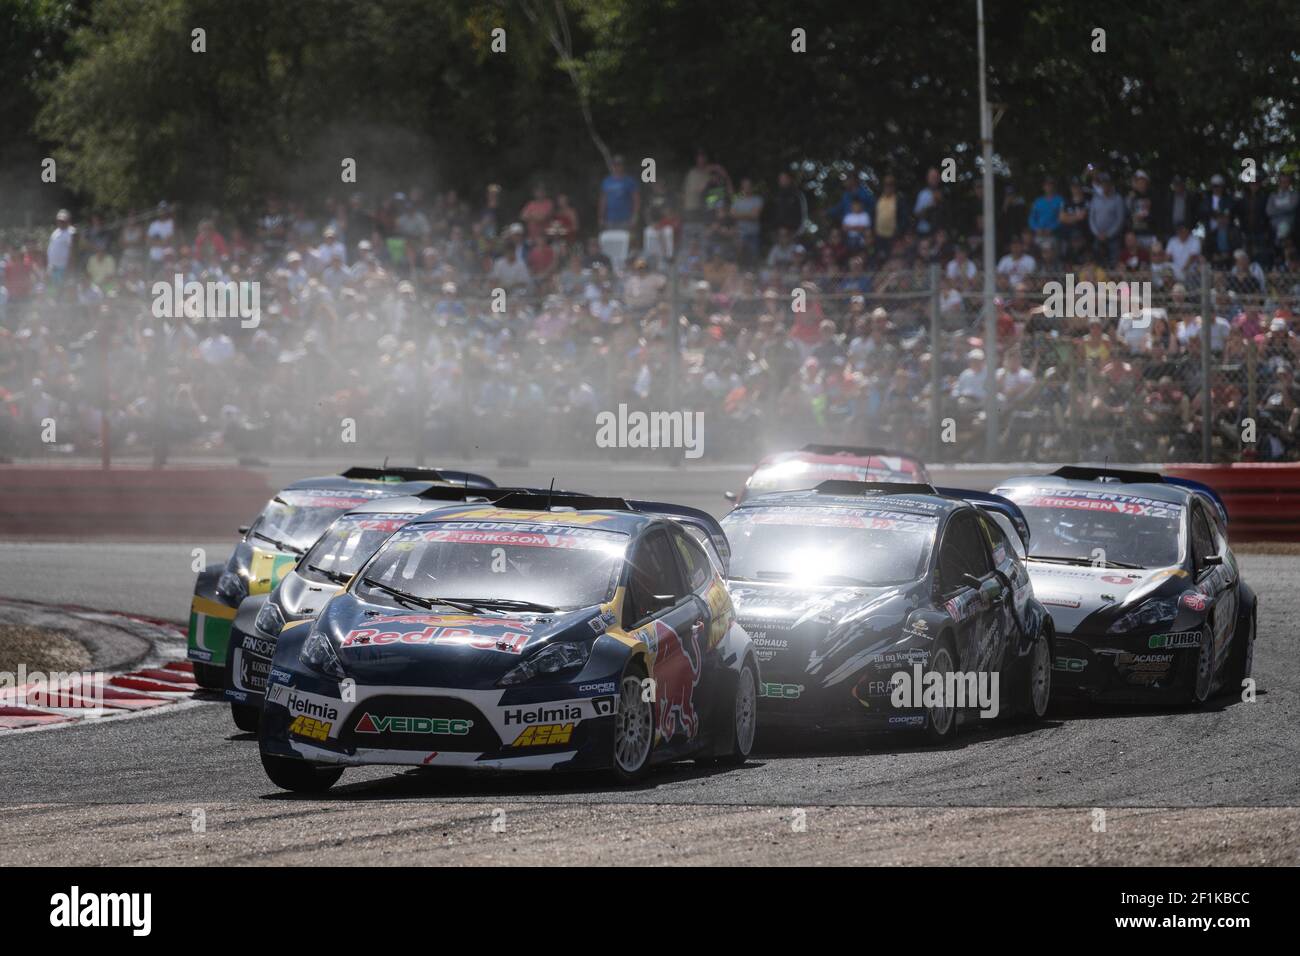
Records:
[[[1002,620],[1010,597],[993,574],[984,531],[972,510],[948,520],[939,545],[939,591],[957,627],[958,667],[997,671],[1006,653]]]

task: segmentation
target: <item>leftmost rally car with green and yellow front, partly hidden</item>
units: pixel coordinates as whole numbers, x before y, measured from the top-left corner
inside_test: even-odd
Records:
[[[186,656],[199,687],[225,687],[230,626],[250,594],[266,594],[303,551],[344,511],[377,498],[417,494],[430,485],[495,488],[482,475],[437,468],[348,468],[342,475],[303,479],[282,489],[220,564],[199,572],[190,601]]]

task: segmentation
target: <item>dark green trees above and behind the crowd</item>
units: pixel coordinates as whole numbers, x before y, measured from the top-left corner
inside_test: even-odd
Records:
[[[905,182],[944,157],[976,174],[975,4],[828,0],[9,0],[0,118],[44,140],[91,202],[254,202],[394,185],[580,200],[595,133],[671,176],[702,143],[770,181],[836,164]],[[564,13],[573,59],[547,26]],[[1268,168],[1295,148],[1300,18],[1280,0],[989,0],[997,152],[1040,170],[1143,165],[1157,181]],[[508,52],[490,51],[495,26]],[[207,52],[190,49],[207,30]],[[790,31],[807,31],[807,52]],[[1105,53],[1091,51],[1106,30]],[[69,38],[65,42],[65,38]],[[566,66],[572,65],[571,77]],[[42,104],[39,116],[34,103]],[[20,137],[20,139],[23,139]],[[17,147],[10,147],[17,148]],[[35,147],[29,152],[34,152]],[[43,155],[43,153],[42,153]],[[636,163],[633,161],[633,168]]]

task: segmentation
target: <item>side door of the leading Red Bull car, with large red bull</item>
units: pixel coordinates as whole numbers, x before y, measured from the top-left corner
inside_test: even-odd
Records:
[[[668,750],[690,750],[702,739],[705,606],[686,587],[668,529],[650,528],[632,551],[623,627],[649,650],[655,745]]]

